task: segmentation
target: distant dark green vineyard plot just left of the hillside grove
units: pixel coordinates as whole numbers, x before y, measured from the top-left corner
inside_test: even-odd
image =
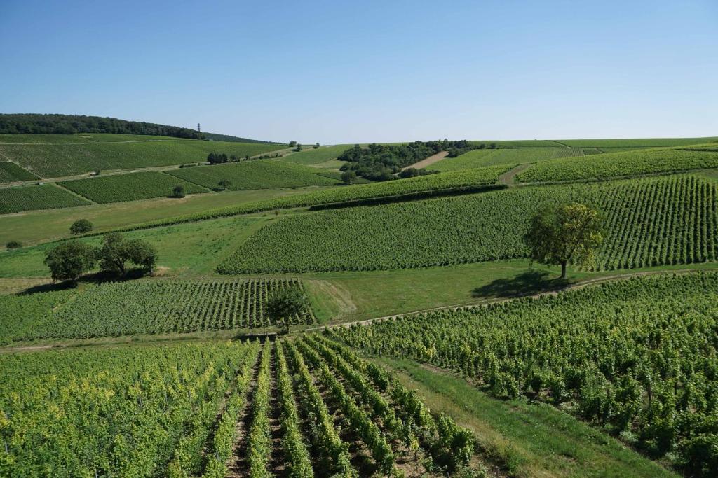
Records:
[[[317,174],[307,166],[284,161],[258,160],[241,163],[197,166],[167,171],[172,176],[199,184],[205,188],[218,188],[219,181],[231,181],[233,191],[247,189],[296,188],[300,186],[332,186],[336,179]]]

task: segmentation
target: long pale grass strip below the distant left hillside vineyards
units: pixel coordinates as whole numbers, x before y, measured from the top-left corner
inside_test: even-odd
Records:
[[[223,191],[218,194],[197,194],[183,199],[148,199],[129,203],[101,204],[53,211],[29,211],[0,216],[0,247],[10,240],[37,244],[70,236],[70,224],[89,219],[95,229],[116,229],[138,222],[156,221],[182,214],[195,214],[225,206],[251,203],[280,196],[320,191],[312,186],[296,189],[261,189],[255,191]],[[0,194],[1,194],[0,190]]]

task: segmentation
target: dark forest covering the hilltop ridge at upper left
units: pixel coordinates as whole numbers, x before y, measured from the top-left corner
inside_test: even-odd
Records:
[[[0,133],[62,135],[71,135],[73,133],[115,133],[172,136],[173,138],[188,139],[205,138],[202,133],[190,128],[85,115],[0,115]]]

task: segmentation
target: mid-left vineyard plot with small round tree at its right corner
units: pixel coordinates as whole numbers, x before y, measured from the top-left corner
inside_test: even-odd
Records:
[[[270,327],[276,323],[264,305],[272,292],[290,285],[302,287],[296,279],[165,279],[0,295],[0,309],[9,312],[0,343]],[[306,310],[289,322],[311,324],[314,315]]]

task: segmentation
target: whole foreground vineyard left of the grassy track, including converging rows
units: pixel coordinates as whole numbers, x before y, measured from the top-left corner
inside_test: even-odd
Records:
[[[22,353],[0,364],[7,471],[419,477],[482,467],[472,434],[319,336]]]

